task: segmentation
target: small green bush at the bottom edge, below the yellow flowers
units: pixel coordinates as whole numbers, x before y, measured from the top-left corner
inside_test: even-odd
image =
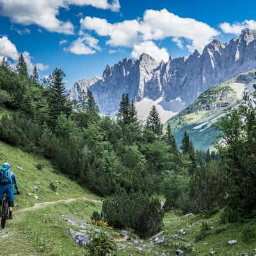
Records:
[[[106,232],[96,233],[87,245],[88,256],[116,256],[116,244]]]

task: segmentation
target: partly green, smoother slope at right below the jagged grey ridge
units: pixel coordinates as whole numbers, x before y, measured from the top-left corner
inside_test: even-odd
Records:
[[[236,108],[243,99],[244,91],[253,92],[254,83],[255,70],[234,77],[202,93],[193,104],[168,120],[178,145],[184,131],[188,131],[196,149],[205,150],[211,147],[218,134],[214,124],[225,115],[227,108]]]

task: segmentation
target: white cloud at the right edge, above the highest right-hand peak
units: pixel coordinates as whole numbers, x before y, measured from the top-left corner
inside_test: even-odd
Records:
[[[234,22],[233,24],[223,22],[220,24],[220,28],[225,33],[239,35],[244,28],[256,29],[256,20],[244,20],[243,22]]]

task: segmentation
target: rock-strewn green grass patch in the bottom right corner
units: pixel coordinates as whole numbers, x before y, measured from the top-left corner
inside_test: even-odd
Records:
[[[207,232],[207,236],[195,243],[195,237],[200,234],[200,229],[203,222],[206,222],[210,229]],[[240,255],[241,253],[253,253],[256,251],[256,237],[245,243],[241,230],[245,227],[246,223],[229,223],[227,225],[221,224],[220,213],[212,216],[198,215],[194,218],[187,218],[185,216],[179,216],[175,212],[166,214],[164,218],[166,230],[170,234],[177,234],[181,228],[186,228],[186,235],[184,237],[187,242],[191,243],[195,247],[195,255],[205,256],[210,255],[210,249],[212,248],[216,255]],[[256,220],[248,221],[247,225],[250,225],[253,230],[256,230]],[[230,240],[237,240],[237,244],[228,246],[227,242]],[[182,242],[184,243],[184,242]],[[207,243],[207,244],[206,244]]]

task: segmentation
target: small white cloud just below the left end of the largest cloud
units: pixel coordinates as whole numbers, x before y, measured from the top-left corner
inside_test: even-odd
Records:
[[[77,55],[95,54],[96,51],[101,51],[98,45],[99,40],[92,36],[82,36],[74,40],[64,51],[71,52]]]

